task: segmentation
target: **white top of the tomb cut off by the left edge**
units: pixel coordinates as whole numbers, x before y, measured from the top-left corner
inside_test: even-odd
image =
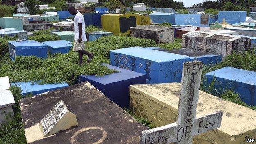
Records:
[[[0,77],[0,108],[14,105],[14,97],[10,90],[9,77]]]

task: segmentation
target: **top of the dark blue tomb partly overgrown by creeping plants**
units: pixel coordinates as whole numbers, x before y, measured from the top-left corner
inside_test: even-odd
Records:
[[[135,71],[130,71],[127,69],[122,69],[119,68],[117,66],[112,66],[109,64],[102,64],[103,66],[107,66],[108,69],[114,69],[116,71],[119,71],[117,73],[112,73],[110,75],[104,75],[103,77],[101,76],[94,76],[94,75],[85,75],[86,78],[91,79],[95,82],[99,82],[103,85],[107,85],[113,82],[118,82],[118,81],[123,81],[123,80],[128,80],[131,78],[136,78],[136,77],[140,77],[143,76],[144,74],[142,73],[138,73]],[[125,75],[125,76],[124,76]],[[106,81],[107,79],[107,81]]]

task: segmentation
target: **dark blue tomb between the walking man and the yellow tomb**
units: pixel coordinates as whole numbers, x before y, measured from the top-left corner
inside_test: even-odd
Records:
[[[101,15],[105,13],[85,13],[84,19],[85,19],[85,25],[94,25],[101,27]]]

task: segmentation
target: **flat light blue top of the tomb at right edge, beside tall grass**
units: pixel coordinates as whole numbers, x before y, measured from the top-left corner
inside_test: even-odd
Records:
[[[253,71],[247,71],[247,70],[231,68],[231,67],[224,67],[224,68],[206,73],[205,75],[212,75],[212,76],[215,75],[215,77],[236,81],[252,73]]]

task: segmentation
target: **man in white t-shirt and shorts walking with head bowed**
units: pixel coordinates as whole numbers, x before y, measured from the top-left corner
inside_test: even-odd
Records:
[[[85,51],[85,21],[83,15],[78,12],[74,6],[69,6],[68,11],[70,14],[75,15],[74,25],[75,25],[75,42],[73,46],[73,50],[78,52],[79,55],[79,64],[82,64],[82,56],[83,54],[88,55],[87,62],[90,62],[93,58],[94,54]]]

